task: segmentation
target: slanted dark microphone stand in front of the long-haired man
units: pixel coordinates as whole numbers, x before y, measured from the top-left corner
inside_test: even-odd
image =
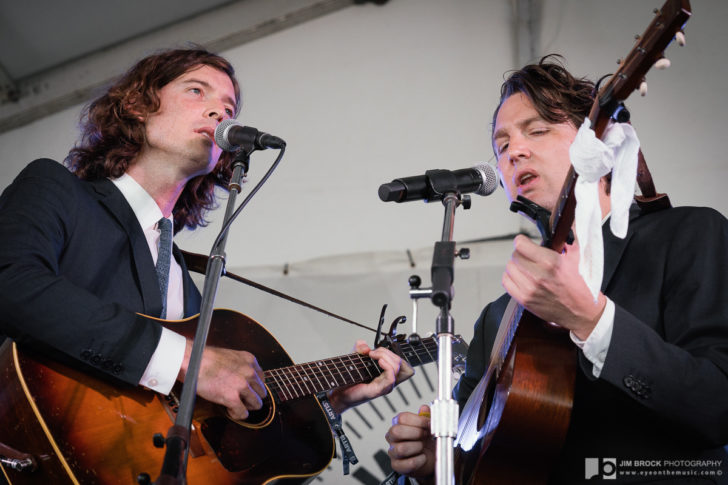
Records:
[[[187,366],[185,382],[182,386],[179,412],[177,413],[174,425],[167,432],[162,471],[159,478],[154,482],[157,485],[184,485],[187,483],[186,470],[190,445],[190,427],[192,426],[192,414],[195,407],[197,380],[202,363],[202,352],[205,349],[207,334],[210,330],[217,287],[225,268],[225,243],[227,242],[229,221],[233,217],[235,199],[241,191],[241,181],[248,173],[250,154],[254,150],[255,147],[252,143],[250,145],[244,144],[236,152],[232,162],[233,174],[229,184],[230,195],[228,197],[227,207],[225,208],[225,217],[222,225],[225,233],[221,234],[222,237],[218,237],[216,240],[207,262],[200,316],[195,338],[192,343],[192,353]]]

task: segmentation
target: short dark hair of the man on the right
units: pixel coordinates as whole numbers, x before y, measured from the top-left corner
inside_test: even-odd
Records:
[[[550,123],[571,122],[581,126],[594,103],[594,83],[573,76],[563,66],[563,57],[549,54],[538,64],[512,71],[501,85],[501,97],[493,113],[493,124],[503,102],[516,93],[531,100],[539,116]]]

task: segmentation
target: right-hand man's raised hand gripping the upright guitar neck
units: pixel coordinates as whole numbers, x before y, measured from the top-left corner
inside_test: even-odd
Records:
[[[586,340],[594,329],[607,301],[599,293],[594,302],[579,275],[576,242],[559,254],[526,236],[516,236],[501,282],[508,294],[531,313],[571,330],[581,340]]]

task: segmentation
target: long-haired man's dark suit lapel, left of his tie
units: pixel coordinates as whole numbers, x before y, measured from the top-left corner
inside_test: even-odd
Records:
[[[99,196],[99,202],[116,218],[129,237],[133,254],[132,264],[136,268],[137,283],[144,302],[144,313],[158,316],[162,311],[162,294],[159,291],[157,273],[154,269],[154,260],[149,252],[149,245],[134,211],[110,180],[97,180],[91,184]]]

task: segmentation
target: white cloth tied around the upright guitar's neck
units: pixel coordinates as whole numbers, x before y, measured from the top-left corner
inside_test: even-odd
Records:
[[[612,172],[610,228],[620,238],[627,235],[629,206],[634,197],[639,140],[631,125],[610,123],[604,140],[596,137],[589,118],[579,128],[569,148],[574,170],[579,174],[576,196],[576,238],[579,241],[579,274],[596,301],[604,275],[602,213],[599,179]]]

